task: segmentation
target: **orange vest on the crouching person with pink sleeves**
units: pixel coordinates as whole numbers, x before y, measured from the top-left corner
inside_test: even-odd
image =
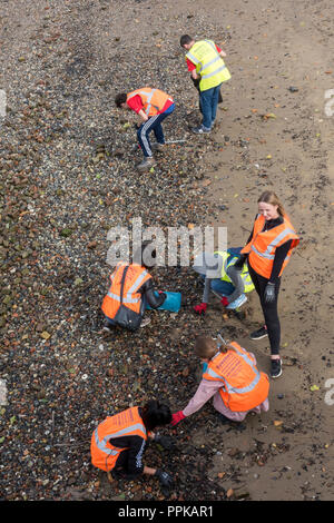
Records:
[[[236,349],[218,352],[209,362],[204,379],[222,382],[219,394],[233,412],[246,412],[261,405],[269,392],[268,376],[256,368],[253,356],[236,342]]]

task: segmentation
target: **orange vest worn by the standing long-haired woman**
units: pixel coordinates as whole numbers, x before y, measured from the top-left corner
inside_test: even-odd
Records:
[[[288,264],[292,250],[298,245],[299,238],[292,226],[288,217],[284,215],[283,224],[269,230],[263,230],[265,217],[257,215],[250,241],[242,249],[242,254],[248,254],[250,267],[264,278],[269,279],[273,270],[276,248],[292,239],[288,250],[278,276]]]

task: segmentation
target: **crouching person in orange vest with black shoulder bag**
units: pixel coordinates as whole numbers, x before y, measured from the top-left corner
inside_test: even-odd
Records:
[[[147,305],[155,309],[164,304],[166,294],[155,292],[153,277],[147,270],[148,260],[154,263],[151,258],[156,257],[155,249],[145,255],[145,249],[150,244],[143,241],[135,254],[134,258],[139,263],[120,262],[111,274],[111,284],[101,305],[106,317],[105,332],[111,330],[116,325],[130,330],[144,327],[150,323],[149,318],[144,318]]]

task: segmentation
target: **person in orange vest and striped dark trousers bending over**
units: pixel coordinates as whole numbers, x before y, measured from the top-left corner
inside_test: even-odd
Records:
[[[144,154],[144,160],[137,166],[140,172],[151,169],[156,165],[149,134],[154,131],[157,144],[156,150],[164,150],[165,136],[161,122],[175,109],[173,98],[167,92],[151,87],[141,87],[131,92],[120,92],[115,98],[118,108],[130,109],[140,117],[141,125],[137,127],[137,138]]]

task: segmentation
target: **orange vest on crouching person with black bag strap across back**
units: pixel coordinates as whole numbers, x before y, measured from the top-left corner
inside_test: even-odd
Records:
[[[102,312],[110,319],[115,318],[120,306],[121,278],[126,267],[129,268],[124,284],[122,304],[137,314],[140,314],[141,305],[141,294],[138,293],[138,289],[145,282],[151,278],[150,274],[141,265],[127,265],[120,262],[110,276],[111,286],[101,306]]]

